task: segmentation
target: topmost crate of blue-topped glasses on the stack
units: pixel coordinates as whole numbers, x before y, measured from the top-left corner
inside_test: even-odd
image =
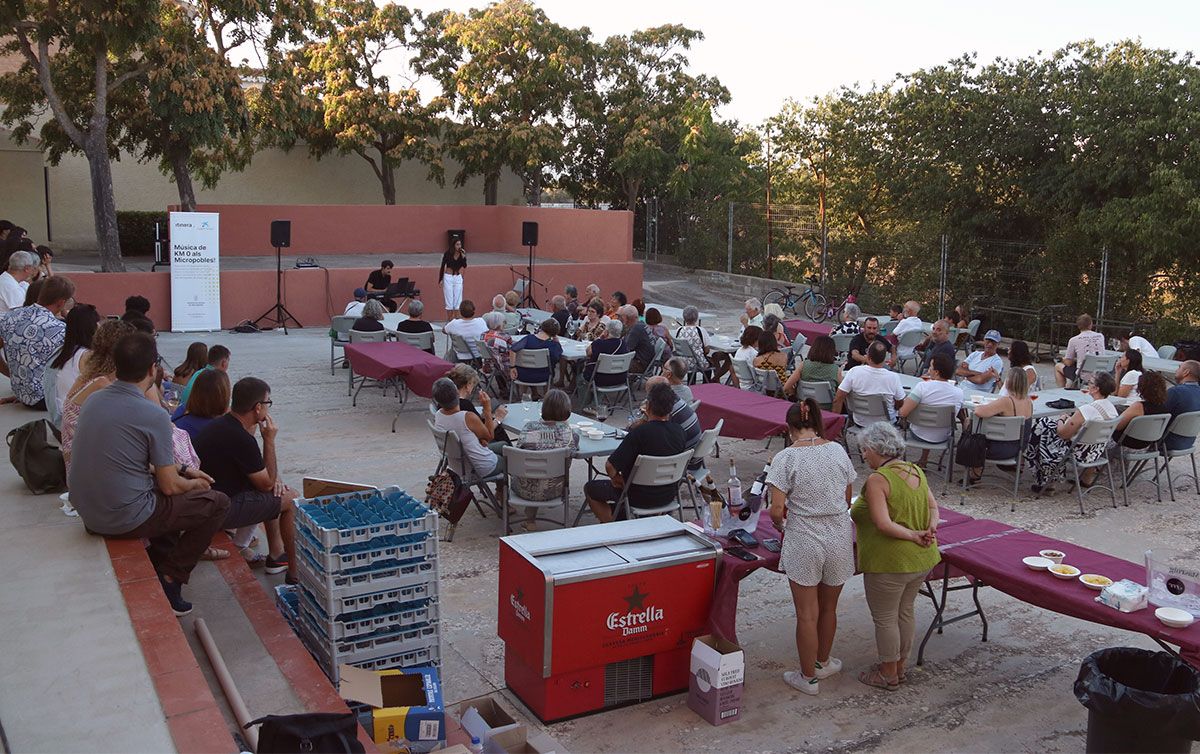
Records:
[[[296,501],[296,526],[325,551],[379,537],[437,535],[438,515],[398,486]]]

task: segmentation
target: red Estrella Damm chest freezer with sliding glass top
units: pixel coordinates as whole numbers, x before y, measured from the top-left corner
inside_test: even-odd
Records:
[[[505,683],[544,722],[688,688],[720,556],[667,516],[502,538]]]

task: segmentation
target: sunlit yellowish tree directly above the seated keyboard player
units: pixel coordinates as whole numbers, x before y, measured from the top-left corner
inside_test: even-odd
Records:
[[[379,179],[385,204],[396,203],[396,167],[419,160],[442,180],[436,139],[444,102],[422,102],[415,78],[394,85],[385,64],[412,50],[420,16],[401,5],[325,0],[299,48],[271,55],[256,112],[269,143],[310,152],[355,154]]]

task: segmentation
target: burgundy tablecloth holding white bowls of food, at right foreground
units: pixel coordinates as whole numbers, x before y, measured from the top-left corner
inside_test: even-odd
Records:
[[[1138,584],[1146,581],[1144,566],[998,521],[980,519],[955,526],[950,532],[955,541],[941,544],[942,558],[949,566],[1031,605],[1176,645],[1186,660],[1200,666],[1200,624],[1168,628],[1154,617],[1152,606],[1138,612],[1120,612],[1097,603],[1098,592],[1078,579],[1062,580],[1049,572],[1031,570],[1021,563],[1021,558],[1037,555],[1040,550],[1058,550],[1067,556],[1064,563],[1085,574],[1100,574],[1114,581],[1129,579]]]

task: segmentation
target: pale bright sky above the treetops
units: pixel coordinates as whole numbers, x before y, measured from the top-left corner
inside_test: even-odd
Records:
[[[422,11],[484,5],[398,1]],[[1180,52],[1200,48],[1195,0],[534,1],[556,23],[588,26],[596,40],[668,23],[698,29],[706,38],[691,50],[692,70],[725,84],[733,101],[720,114],[745,125],[762,122],[787,98],[887,82],[968,52],[985,62],[1079,40],[1130,37]]]

